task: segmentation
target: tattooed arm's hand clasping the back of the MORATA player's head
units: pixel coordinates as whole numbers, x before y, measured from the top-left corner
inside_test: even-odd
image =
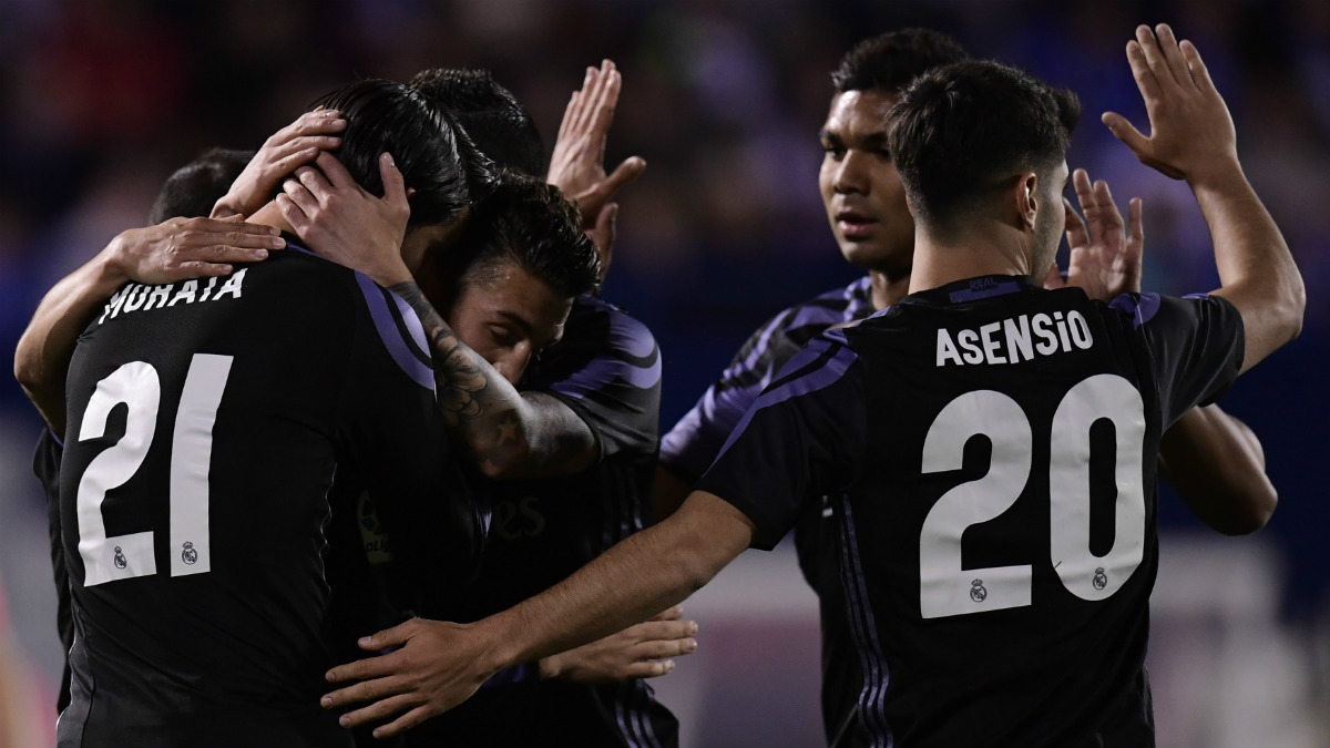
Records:
[[[392,156],[379,157],[382,198],[358,185],[331,154],[319,153],[315,165],[318,169],[297,169],[299,181],[282,182],[283,192],[277,196],[282,217],[311,248],[318,248],[319,256],[359,270],[383,287],[410,282],[402,240],[411,206]]]

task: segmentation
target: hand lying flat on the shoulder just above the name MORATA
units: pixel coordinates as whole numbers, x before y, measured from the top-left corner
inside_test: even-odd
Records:
[[[271,226],[238,220],[172,218],[129,229],[106,246],[106,262],[140,283],[229,276],[235,262],[258,262],[286,241]]]

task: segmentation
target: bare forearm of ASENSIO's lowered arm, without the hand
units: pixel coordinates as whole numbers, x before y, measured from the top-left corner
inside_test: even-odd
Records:
[[[677,604],[753,539],[737,508],[694,492],[669,520],[637,532],[547,592],[477,624],[492,665],[531,661],[593,642]]]

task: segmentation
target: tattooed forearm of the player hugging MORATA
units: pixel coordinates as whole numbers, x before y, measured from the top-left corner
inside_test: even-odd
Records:
[[[435,358],[444,423],[491,478],[576,472],[595,459],[591,429],[567,405],[519,393],[463,343],[414,282],[391,287],[416,311]]]

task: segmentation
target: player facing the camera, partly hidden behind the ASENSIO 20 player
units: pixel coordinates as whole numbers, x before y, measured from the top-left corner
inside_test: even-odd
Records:
[[[888,112],[900,92],[920,73],[967,59],[952,37],[930,29],[902,29],[854,45],[831,81],[835,93],[821,140],[826,152],[818,184],[831,232],[845,258],[867,274],[791,306],[758,327],[697,405],[661,439],[657,506],[669,515],[697,484],[743,413],[790,358],[810,339],[835,325],[867,318],[904,297],[914,256],[914,220],[904,188],[886,149]],[[1140,201],[1132,201],[1129,232],[1108,186],[1073,174],[1085,221],[1068,206],[1071,282],[1093,298],[1108,301],[1121,290],[1140,290]],[[1101,274],[1119,260],[1127,278],[1105,285]],[[1057,282],[1052,274],[1051,281]],[[1097,287],[1096,287],[1097,286]],[[1107,291],[1107,293],[1105,293]],[[1252,532],[1265,524],[1275,492],[1265,475],[1261,445],[1241,421],[1217,405],[1189,411],[1164,437],[1160,472],[1192,511],[1226,534]],[[823,496],[830,502],[831,496]],[[838,575],[838,527],[829,503],[810,504],[794,527],[805,579],[818,592],[822,627],[822,715],[829,744],[853,717],[858,693],[846,687],[855,668],[847,657],[850,628]]]

